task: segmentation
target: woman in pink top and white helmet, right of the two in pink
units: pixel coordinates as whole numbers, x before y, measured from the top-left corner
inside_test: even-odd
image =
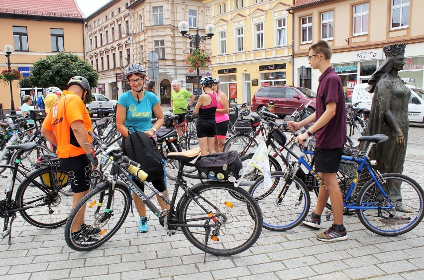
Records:
[[[219,90],[219,80],[216,78],[213,78],[212,91],[218,95],[218,105],[215,113],[216,133],[213,147],[216,152],[220,152],[223,150],[225,139],[227,138],[229,102],[227,95]]]

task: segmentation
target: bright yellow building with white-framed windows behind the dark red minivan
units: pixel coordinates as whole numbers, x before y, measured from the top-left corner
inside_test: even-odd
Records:
[[[211,7],[212,76],[230,102],[251,103],[261,86],[293,85],[289,0],[203,0]],[[236,98],[236,99],[235,99]]]

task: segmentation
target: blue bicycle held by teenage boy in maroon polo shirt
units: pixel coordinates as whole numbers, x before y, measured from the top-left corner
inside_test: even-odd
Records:
[[[361,223],[373,233],[383,236],[397,236],[414,229],[423,219],[423,199],[424,191],[421,186],[412,178],[398,173],[380,172],[373,165],[377,163],[368,158],[369,151],[375,143],[381,143],[387,140],[385,135],[374,135],[361,137],[358,141],[369,141],[368,147],[363,154],[344,154],[342,160],[352,162],[355,167],[355,177],[352,179],[346,196],[343,198],[344,210],[356,211]],[[299,179],[296,174],[301,165],[305,166],[311,174],[325,187],[322,179],[313,170],[308,162],[305,161],[305,154],[313,154],[313,148],[307,140],[302,154],[297,161],[293,161],[285,172],[274,172],[276,180],[270,189],[263,190],[259,178],[250,188],[252,196],[257,197],[264,215],[264,228],[274,231],[285,231],[299,225],[308,215],[311,205],[311,198],[305,183]],[[351,166],[352,167],[352,166]],[[362,171],[365,171],[362,174]],[[364,176],[365,175],[365,176]],[[365,181],[366,176],[371,179],[362,186],[359,182]],[[281,185],[278,183],[281,181]],[[398,184],[401,190],[403,202],[407,205],[408,211],[399,211],[395,199],[390,197],[388,185]],[[279,186],[278,186],[279,185]],[[278,187],[277,187],[278,186]],[[359,189],[357,192],[356,189]],[[258,191],[261,195],[255,195]],[[352,194],[357,192],[356,198]],[[393,199],[393,200],[392,200]],[[406,206],[403,206],[406,207]],[[401,213],[400,215],[399,212]],[[325,216],[329,221],[331,211],[326,211]]]

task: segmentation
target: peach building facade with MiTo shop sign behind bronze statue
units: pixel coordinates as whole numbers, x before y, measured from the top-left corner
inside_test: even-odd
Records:
[[[317,90],[318,70],[308,63],[308,48],[326,40],[333,49],[331,58],[349,101],[353,87],[366,83],[384,61],[383,46],[404,42],[404,70],[401,78],[424,84],[424,29],[421,16],[424,1],[419,0],[298,0],[292,6],[294,24],[294,81]],[[301,66],[306,67],[304,76]]]

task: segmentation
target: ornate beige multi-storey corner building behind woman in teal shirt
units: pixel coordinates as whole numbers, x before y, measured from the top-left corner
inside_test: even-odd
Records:
[[[157,71],[156,94],[162,105],[170,104],[171,82],[177,80],[183,88],[193,92],[196,74],[189,73],[184,52],[194,43],[178,30],[180,21],[190,24],[189,33],[205,33],[209,24],[210,8],[198,0],[117,0],[110,1],[87,18],[86,54],[99,72],[98,91],[109,98],[130,89],[123,79],[125,67],[139,63],[153,79]],[[210,51],[210,42],[205,42]],[[149,70],[149,52],[158,54],[155,69]],[[154,56],[152,57],[154,58]],[[149,74],[150,72],[150,74]],[[202,73],[203,74],[203,73]]]

